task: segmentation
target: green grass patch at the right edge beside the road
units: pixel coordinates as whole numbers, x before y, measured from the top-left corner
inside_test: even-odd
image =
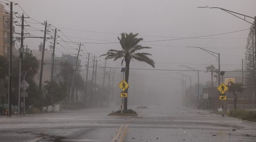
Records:
[[[229,115],[234,118],[239,118],[242,120],[249,120],[252,122],[256,122],[256,111],[247,111],[247,110],[230,110]]]

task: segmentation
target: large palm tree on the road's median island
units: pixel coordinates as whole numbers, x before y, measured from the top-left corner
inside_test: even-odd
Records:
[[[125,81],[128,83],[129,81],[129,68],[130,68],[130,61],[135,59],[138,61],[146,62],[147,64],[151,65],[153,68],[155,68],[155,62],[150,59],[148,56],[151,56],[150,53],[144,53],[144,52],[138,52],[141,49],[149,49],[151,47],[142,47],[142,45],[139,45],[139,42],[143,40],[143,38],[138,38],[139,34],[127,34],[127,33],[121,33],[121,38],[117,37],[119,40],[122,49],[121,50],[114,50],[110,49],[106,54],[101,56],[106,56],[105,59],[122,59],[121,64],[123,64],[123,61],[125,61]],[[126,92],[128,89],[126,89]],[[125,110],[127,110],[127,98],[125,98]]]

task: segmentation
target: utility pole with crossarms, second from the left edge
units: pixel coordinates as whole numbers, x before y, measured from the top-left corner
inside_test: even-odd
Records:
[[[22,24],[21,26],[21,37],[20,37],[20,48],[19,48],[19,85],[21,82],[21,73],[22,73],[22,59],[23,59],[23,53],[24,53],[24,45],[23,45],[23,40],[24,40],[24,14],[22,13],[21,17],[17,17],[22,19]],[[28,18],[28,17],[26,17]],[[28,26],[28,25],[26,25]],[[20,115],[20,91],[21,87],[18,86],[18,115]]]

